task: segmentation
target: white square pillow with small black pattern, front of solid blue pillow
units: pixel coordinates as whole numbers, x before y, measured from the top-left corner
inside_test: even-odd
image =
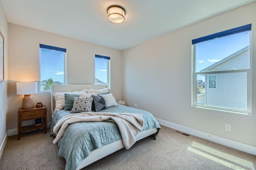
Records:
[[[93,98],[80,98],[74,97],[73,108],[70,113],[81,113],[85,111],[92,112],[92,100]]]

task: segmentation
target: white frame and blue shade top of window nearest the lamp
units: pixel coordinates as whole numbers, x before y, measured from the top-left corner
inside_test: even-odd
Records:
[[[39,92],[50,92],[51,90],[41,90],[41,53],[40,53],[40,49],[48,49],[48,50],[54,50],[54,51],[61,51],[64,53],[64,62],[63,62],[63,68],[64,68],[64,79],[63,79],[63,84],[66,84],[66,80],[67,80],[67,64],[66,64],[66,49],[64,48],[60,48],[60,47],[54,47],[54,46],[50,46],[50,45],[44,45],[44,44],[39,44],[39,73],[40,73],[40,78],[39,78]]]

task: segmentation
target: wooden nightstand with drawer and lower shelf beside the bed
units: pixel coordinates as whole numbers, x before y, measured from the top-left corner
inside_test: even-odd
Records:
[[[40,129],[44,128],[44,133],[46,133],[46,126],[47,126],[47,111],[46,106],[43,107],[33,107],[31,109],[22,109],[19,108],[18,110],[18,140],[20,140],[20,133],[25,131],[31,131],[33,129]],[[44,121],[41,125],[29,125],[29,126],[20,126],[22,121],[31,120],[31,119],[38,119],[44,118]]]

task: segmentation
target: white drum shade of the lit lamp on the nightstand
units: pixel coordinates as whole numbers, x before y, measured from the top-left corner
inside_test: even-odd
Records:
[[[37,93],[37,82],[16,82],[17,94]]]

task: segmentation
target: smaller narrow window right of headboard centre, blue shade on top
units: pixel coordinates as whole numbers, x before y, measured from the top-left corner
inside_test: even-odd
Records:
[[[110,57],[95,55],[95,84],[107,84],[110,89]]]

